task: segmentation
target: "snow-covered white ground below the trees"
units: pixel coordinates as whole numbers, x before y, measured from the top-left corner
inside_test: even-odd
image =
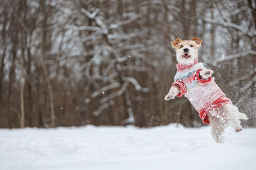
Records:
[[[256,169],[256,129],[168,125],[0,130],[0,169]]]

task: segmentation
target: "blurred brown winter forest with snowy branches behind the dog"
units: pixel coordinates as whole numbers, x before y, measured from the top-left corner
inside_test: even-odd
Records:
[[[256,127],[255,0],[1,0],[0,128],[201,127],[185,98],[164,101],[176,38]]]

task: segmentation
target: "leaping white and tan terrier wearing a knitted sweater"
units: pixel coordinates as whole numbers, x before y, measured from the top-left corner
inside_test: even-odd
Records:
[[[169,93],[165,100],[181,97],[185,94],[196,111],[198,111],[203,123],[210,124],[213,138],[216,142],[223,142],[223,131],[232,124],[235,132],[240,132],[242,126],[240,119],[247,120],[244,113],[233,106],[230,98],[227,98],[212,77],[213,71],[198,63],[198,49],[202,40],[192,38],[171,42],[176,51],[178,61],[177,72]]]

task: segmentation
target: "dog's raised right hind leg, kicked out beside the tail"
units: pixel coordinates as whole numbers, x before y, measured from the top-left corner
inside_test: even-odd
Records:
[[[224,105],[223,108],[225,112],[227,112],[230,115],[230,120],[233,124],[233,127],[235,128],[235,132],[240,132],[242,130],[242,126],[240,125],[240,113],[238,111],[238,108],[230,104]]]

